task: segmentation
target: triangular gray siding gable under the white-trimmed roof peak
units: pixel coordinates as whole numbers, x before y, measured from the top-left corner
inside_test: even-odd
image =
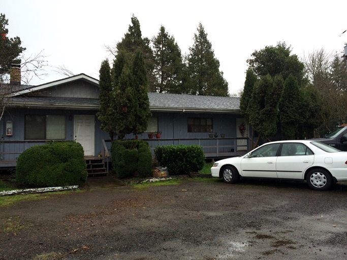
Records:
[[[59,98],[99,99],[99,87],[78,80],[65,85],[54,86],[45,91],[33,93],[38,96],[56,96]]]

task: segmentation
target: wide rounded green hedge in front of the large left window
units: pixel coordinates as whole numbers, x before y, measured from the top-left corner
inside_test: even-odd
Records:
[[[16,181],[24,187],[81,185],[87,179],[81,144],[48,142],[23,151],[17,159]]]

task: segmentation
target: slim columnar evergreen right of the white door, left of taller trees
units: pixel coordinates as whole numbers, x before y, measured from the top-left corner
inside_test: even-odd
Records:
[[[111,68],[108,59],[101,63],[99,76],[99,100],[100,100],[100,111],[97,113],[98,119],[101,121],[101,129],[109,133],[111,141],[114,138],[115,129],[115,113],[112,111],[112,78],[111,78]]]

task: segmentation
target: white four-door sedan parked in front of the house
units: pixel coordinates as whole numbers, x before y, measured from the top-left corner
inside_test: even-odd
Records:
[[[307,181],[315,190],[326,190],[347,180],[347,152],[312,140],[263,144],[239,157],[216,161],[212,177],[236,183],[241,178]]]

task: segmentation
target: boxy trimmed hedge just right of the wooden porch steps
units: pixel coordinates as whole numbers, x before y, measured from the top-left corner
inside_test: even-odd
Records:
[[[152,155],[146,141],[116,140],[111,146],[112,169],[117,177],[127,178],[138,174],[152,176]]]

